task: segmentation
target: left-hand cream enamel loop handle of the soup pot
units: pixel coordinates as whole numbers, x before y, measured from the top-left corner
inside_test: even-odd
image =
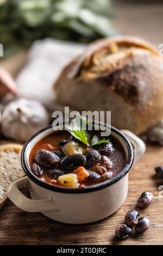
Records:
[[[24,196],[20,188],[28,187],[28,177],[12,183],[7,190],[7,196],[14,203],[17,208],[27,212],[46,212],[46,211],[59,211],[58,205],[53,198],[43,200],[33,200]]]

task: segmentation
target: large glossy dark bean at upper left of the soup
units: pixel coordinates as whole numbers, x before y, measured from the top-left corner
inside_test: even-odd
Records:
[[[41,166],[51,167],[58,163],[59,157],[51,151],[40,149],[35,154],[35,160],[37,163],[41,164]]]

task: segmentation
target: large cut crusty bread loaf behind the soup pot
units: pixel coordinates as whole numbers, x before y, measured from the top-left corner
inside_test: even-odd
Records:
[[[62,70],[57,101],[79,111],[111,111],[111,124],[136,134],[163,118],[163,60],[130,36],[93,42]]]

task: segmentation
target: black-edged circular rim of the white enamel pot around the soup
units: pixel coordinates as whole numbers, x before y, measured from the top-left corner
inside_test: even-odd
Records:
[[[94,122],[94,123],[98,124],[97,122]],[[102,125],[104,125],[104,124],[102,124]],[[107,125],[107,126],[109,127],[109,125]],[[55,186],[55,185],[49,184],[47,182],[44,182],[44,181],[40,180],[39,178],[37,178],[37,176],[35,176],[35,174],[30,169],[28,162],[27,162],[26,151],[27,151],[29,143],[31,143],[34,138],[39,136],[42,132],[45,132],[46,130],[50,130],[50,129],[52,129],[52,125],[47,126],[45,129],[42,129],[41,131],[37,132],[32,138],[30,138],[26,142],[26,144],[24,144],[22,154],[21,154],[21,164],[22,164],[24,173],[34,183],[36,183],[37,185],[39,185],[43,188],[46,188],[47,190],[56,191],[56,192],[60,192],[60,193],[73,193],[73,194],[87,193],[87,192],[102,190],[103,188],[109,187],[112,184],[115,184],[117,181],[121,180],[129,172],[129,170],[131,169],[131,166],[133,165],[134,150],[133,150],[131,143],[129,142],[128,138],[123,135],[123,133],[121,131],[119,131],[115,127],[111,126],[111,130],[114,131],[115,133],[117,133],[117,135],[123,139],[124,143],[127,146],[127,150],[128,150],[128,157],[126,160],[126,164],[120,173],[118,173],[116,176],[114,176],[110,180],[106,180],[106,181],[103,181],[103,182],[95,184],[95,185],[86,186],[84,188],[67,188],[67,187]],[[52,130],[52,132],[53,132],[53,130]]]

